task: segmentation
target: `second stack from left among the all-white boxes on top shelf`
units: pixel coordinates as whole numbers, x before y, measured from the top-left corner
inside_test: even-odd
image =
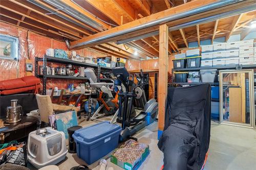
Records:
[[[226,43],[214,44],[214,52],[212,54],[212,66],[225,65]]]

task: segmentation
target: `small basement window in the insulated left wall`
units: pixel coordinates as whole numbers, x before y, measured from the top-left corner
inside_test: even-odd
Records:
[[[0,58],[18,59],[18,38],[0,34]]]

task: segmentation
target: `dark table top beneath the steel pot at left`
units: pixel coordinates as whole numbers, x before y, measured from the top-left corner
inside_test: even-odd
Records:
[[[37,123],[36,117],[22,116],[22,120],[20,122],[7,125],[4,128],[0,128],[0,133],[6,133],[6,132],[14,131],[17,129],[26,128],[36,123]],[[5,124],[9,124],[9,123],[5,122]]]

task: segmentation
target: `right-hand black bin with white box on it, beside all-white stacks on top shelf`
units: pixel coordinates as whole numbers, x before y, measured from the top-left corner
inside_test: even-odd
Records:
[[[201,63],[200,50],[199,49],[187,50],[186,59],[187,59],[187,68],[200,67],[200,63]]]

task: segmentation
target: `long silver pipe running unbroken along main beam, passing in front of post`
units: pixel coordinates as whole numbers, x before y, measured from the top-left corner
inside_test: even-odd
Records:
[[[117,36],[133,33],[133,32],[136,32],[136,31],[139,31],[139,30],[142,30],[142,29],[147,29],[147,28],[150,28],[150,27],[158,26],[158,25],[161,25],[161,24],[166,23],[166,22],[170,22],[170,21],[174,21],[174,20],[177,20],[177,19],[181,19],[181,18],[184,18],[184,17],[191,16],[191,15],[196,15],[196,14],[199,14],[199,13],[202,13],[202,12],[214,10],[214,9],[221,8],[221,7],[230,5],[230,4],[238,3],[238,2],[241,2],[241,1],[245,1],[245,0],[226,0],[226,1],[218,1],[218,2],[215,2],[215,3],[207,4],[205,6],[198,7],[198,8],[195,8],[193,10],[189,10],[189,11],[186,11],[186,12],[181,12],[181,13],[178,13],[178,14],[175,14],[175,15],[170,15],[170,16],[164,17],[162,19],[147,22],[147,23],[144,23],[144,24],[142,24],[140,26],[137,26],[137,27],[133,27],[133,28],[129,28],[129,29],[126,29],[126,30],[118,31],[118,32],[115,32],[113,34],[105,35],[105,36],[102,36],[100,38],[95,38],[95,39],[92,39],[92,40],[89,40],[89,41],[81,42],[81,43],[78,43],[76,45],[69,46],[69,48],[72,50],[72,49],[75,49],[75,48],[79,48],[81,46],[90,46],[90,44],[101,42],[101,41],[104,41],[106,39],[111,39],[111,38],[114,38],[114,37],[117,37]]]

